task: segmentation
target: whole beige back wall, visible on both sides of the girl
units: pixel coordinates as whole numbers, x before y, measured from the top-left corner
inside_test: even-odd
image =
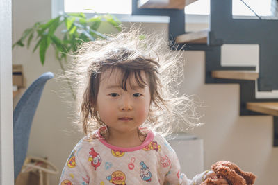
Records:
[[[50,1],[13,1],[13,42],[25,28],[36,21],[47,20],[51,15]],[[191,30],[205,25],[191,25]],[[167,30],[167,24],[142,24],[144,30]],[[59,73],[54,51],[47,52],[44,67],[33,47],[13,50],[14,64],[23,64],[27,86],[45,71]],[[204,139],[205,168],[218,160],[234,161],[243,170],[252,171],[258,177],[256,185],[275,185],[278,172],[278,148],[272,147],[271,116],[238,116],[239,85],[205,85],[204,51],[186,51],[186,73],[181,91],[195,94],[204,101],[199,112],[205,116],[203,127],[190,133]],[[70,151],[81,138],[72,126],[72,109],[60,94],[62,83],[50,80],[42,94],[31,130],[28,155],[49,157],[62,170]],[[18,98],[15,99],[15,103]],[[58,176],[51,176],[51,184],[58,184]]]

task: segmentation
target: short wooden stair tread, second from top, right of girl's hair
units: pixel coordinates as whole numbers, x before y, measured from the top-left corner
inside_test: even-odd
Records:
[[[185,33],[176,37],[177,43],[207,44],[209,30],[200,30],[193,33]]]

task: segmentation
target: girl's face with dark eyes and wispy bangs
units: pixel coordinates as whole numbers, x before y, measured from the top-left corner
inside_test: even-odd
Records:
[[[147,78],[141,71],[144,82]],[[99,92],[95,109],[99,112],[101,121],[108,126],[109,132],[124,134],[126,132],[137,132],[137,128],[147,119],[151,95],[149,85],[144,88],[138,86],[134,76],[126,81],[124,91],[120,84],[122,82],[120,69],[107,69],[101,73]],[[131,86],[138,86],[131,89]]]

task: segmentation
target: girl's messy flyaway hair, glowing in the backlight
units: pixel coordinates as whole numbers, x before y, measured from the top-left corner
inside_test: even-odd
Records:
[[[95,110],[101,73],[107,69],[120,69],[126,90],[129,77],[134,77],[140,87],[149,85],[151,104],[149,115],[142,127],[167,136],[176,127],[201,125],[193,100],[177,91],[183,76],[182,51],[170,51],[161,35],[143,34],[136,28],[123,30],[108,39],[85,42],[74,55],[70,78],[76,83],[76,105],[79,113],[76,123],[84,134],[92,134],[104,126]],[[145,71],[147,82],[140,71]]]

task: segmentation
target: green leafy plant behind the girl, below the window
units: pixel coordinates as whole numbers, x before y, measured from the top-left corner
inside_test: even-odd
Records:
[[[75,54],[76,49],[83,42],[88,42],[97,38],[106,39],[105,35],[97,31],[101,22],[104,21],[117,28],[117,30],[121,30],[121,22],[113,15],[96,14],[94,17],[87,18],[83,13],[63,13],[54,19],[50,19],[46,23],[36,22],[31,28],[24,30],[22,37],[13,44],[13,48],[15,46],[26,46],[29,48],[34,39],[36,44],[33,52],[39,48],[40,62],[44,65],[45,53],[47,49],[49,49],[49,46],[53,46],[56,59],[61,69],[65,71],[67,53]],[[63,29],[61,33],[56,33],[56,30],[63,25],[65,29]],[[75,99],[75,94],[68,78],[67,83],[70,85],[72,95]]]

